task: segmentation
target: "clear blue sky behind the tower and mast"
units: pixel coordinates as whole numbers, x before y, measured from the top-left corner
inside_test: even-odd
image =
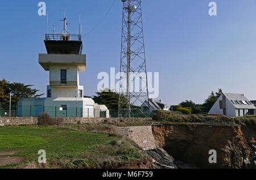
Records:
[[[0,3],[0,77],[35,85],[46,93],[48,72],[38,64],[46,53],[46,16],[37,0]],[[62,30],[67,9],[68,31],[90,31],[114,0],[44,1],[52,24]],[[148,72],[159,72],[159,99],[169,105],[186,99],[203,103],[211,91],[243,93],[256,99],[256,1],[216,0],[217,16],[209,16],[208,0],[142,0]],[[104,21],[83,38],[87,72],[80,74],[85,95],[97,91],[97,74],[119,70],[122,3],[116,0]]]

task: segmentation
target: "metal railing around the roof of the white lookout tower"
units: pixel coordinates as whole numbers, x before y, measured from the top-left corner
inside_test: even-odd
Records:
[[[82,37],[71,34],[46,34],[46,41],[82,41]]]

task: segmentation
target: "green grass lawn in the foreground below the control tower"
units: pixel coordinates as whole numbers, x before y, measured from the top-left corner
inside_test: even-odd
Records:
[[[38,150],[46,150],[47,165],[39,165]],[[16,152],[5,155],[6,152]],[[101,168],[102,164],[146,158],[133,141],[108,132],[68,131],[60,127],[0,127],[1,157],[24,157],[20,164],[0,168],[24,168],[32,162],[39,168]],[[43,166],[43,167],[41,167]]]

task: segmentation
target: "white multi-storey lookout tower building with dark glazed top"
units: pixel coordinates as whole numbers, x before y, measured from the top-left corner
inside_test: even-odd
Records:
[[[47,34],[44,43],[47,54],[39,54],[39,64],[49,72],[47,98],[22,99],[18,102],[18,116],[38,116],[47,112],[59,117],[109,117],[105,105],[84,98],[84,87],[79,84],[79,72],[86,71],[86,55],[82,55],[81,35],[67,32],[64,18],[62,34]]]

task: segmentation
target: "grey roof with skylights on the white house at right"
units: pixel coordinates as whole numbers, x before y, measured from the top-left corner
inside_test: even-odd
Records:
[[[232,103],[232,101],[249,101],[243,94],[232,94],[232,93],[222,93],[225,97]],[[250,102],[250,101],[249,101]],[[237,109],[256,109],[254,104],[234,104]]]

